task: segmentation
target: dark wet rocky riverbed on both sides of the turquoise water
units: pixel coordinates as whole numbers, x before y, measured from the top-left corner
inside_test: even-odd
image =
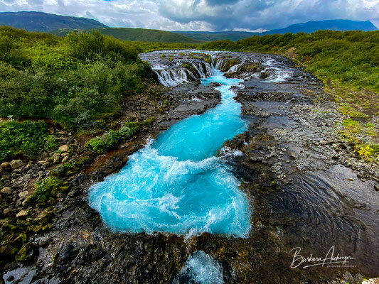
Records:
[[[201,72],[186,66],[195,56],[196,62],[201,60],[201,55],[184,60],[183,52],[169,52],[161,57],[162,65],[181,58],[178,72],[183,72],[181,68],[197,72],[186,73],[195,82],[169,89],[155,86],[131,97],[123,119],[155,119],[137,137],[96,156],[82,150],[90,137],[51,127],[62,144],[58,155],[46,153],[38,162],[13,160],[1,165],[1,229],[9,231],[1,244],[2,256],[23,244],[18,261],[3,261],[2,281],[171,283],[194,251],[218,261],[225,283],[360,283],[363,277],[378,276],[378,163],[357,157],[338,136],[338,125],[346,117],[336,111],[321,82],[277,55],[212,55],[226,76],[245,80],[235,87],[235,99],[242,104],[249,130],[227,141],[220,155],[242,153],[231,155],[229,163],[254,209],[249,236],[119,234],[87,204],[88,187],[122,168],[147,138],[220,102],[213,86],[203,87],[193,79]],[[207,58],[204,55],[196,67],[210,64]],[[38,178],[80,158],[87,160],[77,173],[65,177],[65,193],[43,209],[26,201]],[[292,249],[301,248],[302,256],[324,257],[333,246],[335,255],[355,258],[349,262],[352,267],[291,268]]]

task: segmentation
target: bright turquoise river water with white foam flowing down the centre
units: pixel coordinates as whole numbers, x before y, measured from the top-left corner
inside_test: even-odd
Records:
[[[230,90],[241,80],[214,70],[222,102],[183,119],[129,157],[119,173],[90,187],[90,206],[115,231],[247,236],[250,207],[225,157],[223,143],[247,129]]]

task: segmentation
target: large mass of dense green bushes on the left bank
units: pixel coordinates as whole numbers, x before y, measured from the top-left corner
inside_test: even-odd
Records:
[[[149,70],[135,45],[97,31],[55,38],[3,26],[0,38],[0,116],[86,129],[118,114]]]

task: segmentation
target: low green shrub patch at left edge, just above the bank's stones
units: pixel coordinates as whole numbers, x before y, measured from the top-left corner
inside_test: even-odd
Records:
[[[41,151],[56,148],[44,121],[4,121],[0,123],[0,160],[7,155],[24,154],[36,158]]]

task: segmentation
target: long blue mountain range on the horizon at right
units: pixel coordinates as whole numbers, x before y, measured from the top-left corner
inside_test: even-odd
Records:
[[[242,38],[250,38],[253,35],[273,35],[275,33],[313,33],[319,30],[331,31],[376,31],[373,23],[370,21],[351,21],[351,20],[327,20],[327,21],[309,21],[307,23],[295,23],[287,28],[279,28],[276,30],[265,31],[263,33],[248,33],[240,31],[174,31],[180,35],[188,36],[196,40],[241,40]]]

